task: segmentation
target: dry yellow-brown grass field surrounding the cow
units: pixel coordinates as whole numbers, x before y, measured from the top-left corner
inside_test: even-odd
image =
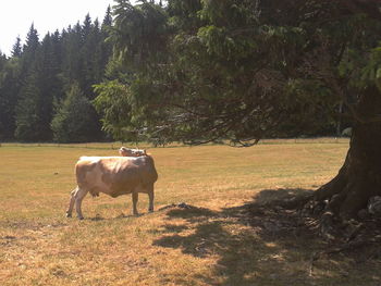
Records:
[[[84,199],[84,221],[66,219],[76,160],[109,147],[0,147],[0,285],[381,285],[380,256],[325,256],[311,272],[328,243],[247,213],[329,181],[347,140],[151,148],[153,213],[146,195],[139,216],[130,196],[101,195]]]

